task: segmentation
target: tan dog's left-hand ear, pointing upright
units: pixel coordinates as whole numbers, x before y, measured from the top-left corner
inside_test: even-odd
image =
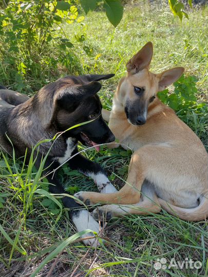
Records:
[[[148,69],[153,57],[153,44],[148,42],[135,54],[126,64],[126,69],[131,74],[135,74],[145,67]]]

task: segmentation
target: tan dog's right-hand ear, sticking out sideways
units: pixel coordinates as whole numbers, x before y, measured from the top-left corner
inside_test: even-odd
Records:
[[[184,72],[183,67],[175,67],[172,69],[165,70],[162,73],[158,74],[160,78],[160,81],[158,84],[158,91],[162,91],[167,86],[176,82],[183,74],[183,72]]]

